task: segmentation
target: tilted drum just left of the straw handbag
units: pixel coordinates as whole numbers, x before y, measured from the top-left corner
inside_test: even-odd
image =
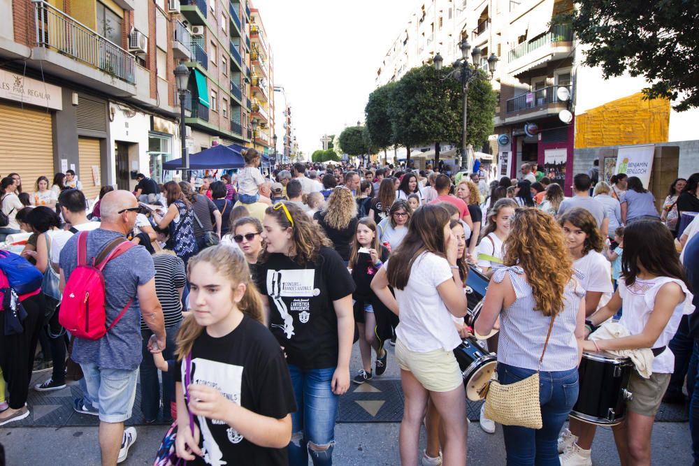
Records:
[[[486,351],[475,337],[462,340],[454,349],[454,356],[461,368],[466,397],[472,401],[482,400],[484,397],[479,392],[493,376],[498,358]]]

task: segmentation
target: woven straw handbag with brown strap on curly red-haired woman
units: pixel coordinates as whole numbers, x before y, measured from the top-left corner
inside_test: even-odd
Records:
[[[553,316],[546,334],[544,349],[539,358],[539,369],[544,360],[546,347],[549,344],[551,330],[554,328],[556,316]],[[541,405],[539,402],[539,370],[526,379],[503,385],[492,379],[484,388],[485,416],[502,425],[519,425],[521,427],[540,429]]]

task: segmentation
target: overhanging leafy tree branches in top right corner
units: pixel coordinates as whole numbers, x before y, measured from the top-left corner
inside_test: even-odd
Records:
[[[589,45],[584,63],[606,78],[628,72],[651,83],[648,99],[681,100],[675,110],[699,106],[699,3],[686,0],[579,0],[579,8],[556,17],[572,22]]]

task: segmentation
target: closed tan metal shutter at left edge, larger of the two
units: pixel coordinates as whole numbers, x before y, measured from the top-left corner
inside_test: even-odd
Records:
[[[0,103],[0,174],[13,172],[25,192],[34,192],[40,176],[53,181],[52,112]]]

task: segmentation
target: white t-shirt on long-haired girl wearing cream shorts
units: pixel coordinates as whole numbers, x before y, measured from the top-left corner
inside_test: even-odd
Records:
[[[386,261],[385,266],[390,261]],[[425,252],[412,264],[405,289],[395,290],[398,309],[401,310],[396,336],[410,351],[452,351],[461,344],[452,314],[437,291],[437,286],[451,279],[452,269],[447,259]]]

